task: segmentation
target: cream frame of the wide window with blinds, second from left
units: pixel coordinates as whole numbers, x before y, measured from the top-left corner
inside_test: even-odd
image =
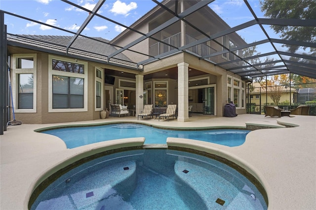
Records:
[[[60,70],[52,70],[52,61],[66,61],[83,65],[83,73],[73,73]],[[54,108],[53,109],[53,75],[82,78],[83,84],[83,108]],[[79,112],[88,111],[88,63],[77,59],[48,55],[48,112]]]

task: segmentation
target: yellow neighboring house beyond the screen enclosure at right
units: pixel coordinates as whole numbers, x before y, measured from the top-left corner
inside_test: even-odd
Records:
[[[275,104],[275,102],[271,99],[272,94],[279,94],[280,99],[278,101],[278,104],[289,102],[296,103],[297,91],[295,88],[289,88],[288,86],[265,88],[262,87],[259,82],[253,82],[252,86],[249,87],[250,98],[248,102],[256,105]]]

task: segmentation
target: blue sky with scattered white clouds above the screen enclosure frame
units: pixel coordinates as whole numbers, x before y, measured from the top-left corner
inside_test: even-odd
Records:
[[[80,6],[92,10],[97,0],[72,0]],[[252,8],[258,17],[263,17],[258,0],[250,0]],[[18,5],[18,6],[17,6]],[[115,20],[123,25],[130,26],[157,4],[151,0],[106,0],[99,14]],[[231,27],[243,22],[253,20],[253,16],[246,8],[243,0],[215,0],[209,6]],[[81,24],[89,15],[88,12],[76,8],[60,0],[0,0],[1,10],[15,13],[30,19],[57,26],[72,32],[77,32]],[[8,33],[31,35],[71,35],[59,30],[40,25],[28,20],[22,20],[10,15],[5,15],[5,24]],[[123,27],[94,17],[82,35],[113,39],[124,30]],[[256,28],[249,28],[238,34],[255,41],[258,38]],[[263,37],[264,38],[264,37]],[[252,41],[250,39],[253,39]]]

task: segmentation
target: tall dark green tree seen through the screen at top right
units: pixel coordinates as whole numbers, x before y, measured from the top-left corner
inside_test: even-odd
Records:
[[[316,0],[260,0],[260,4],[261,11],[265,12],[268,18],[316,19]],[[271,28],[286,40],[316,42],[316,27],[271,25]],[[286,46],[289,52],[295,52],[300,47]],[[316,49],[311,48],[311,51],[316,51]]]

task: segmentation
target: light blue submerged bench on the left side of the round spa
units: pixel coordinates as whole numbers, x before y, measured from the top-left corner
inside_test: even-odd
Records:
[[[71,179],[62,187],[63,192],[56,190],[55,198],[40,202],[38,209],[129,209],[122,198],[134,190],[136,178],[135,161],[106,166],[80,180]]]

